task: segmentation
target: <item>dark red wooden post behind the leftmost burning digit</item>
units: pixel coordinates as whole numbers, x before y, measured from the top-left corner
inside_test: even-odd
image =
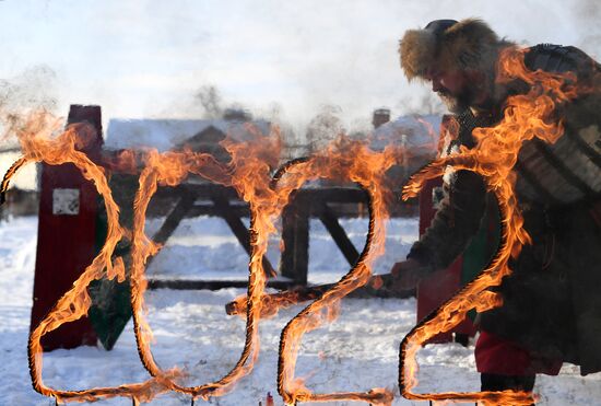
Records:
[[[97,159],[103,144],[101,107],[72,105],[68,125],[81,121],[97,130],[96,139],[83,150]],[[32,329],[92,263],[97,199],[94,185],[73,164],[42,165]],[[45,350],[96,345],[96,334],[82,317],[47,334],[42,344]]]

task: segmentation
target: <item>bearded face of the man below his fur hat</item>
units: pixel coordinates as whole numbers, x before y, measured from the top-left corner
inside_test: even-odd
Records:
[[[425,79],[432,82],[432,91],[440,96],[451,113],[461,113],[474,102],[474,83],[468,80],[463,71],[431,69]]]

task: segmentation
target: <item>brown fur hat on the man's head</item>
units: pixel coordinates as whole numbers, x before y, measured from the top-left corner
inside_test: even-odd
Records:
[[[409,80],[423,79],[434,63],[444,70],[486,69],[502,44],[481,20],[436,20],[424,30],[405,32],[399,44],[401,67]]]

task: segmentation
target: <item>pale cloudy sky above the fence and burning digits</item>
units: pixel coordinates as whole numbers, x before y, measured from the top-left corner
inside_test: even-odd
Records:
[[[601,57],[598,0],[0,0],[0,79],[33,83],[111,117],[198,117],[193,95],[215,85],[256,115],[278,106],[306,123],[325,104],[345,123],[374,108],[419,105],[398,39],[436,19],[484,19],[533,45]],[[43,67],[43,68],[40,68]],[[39,78],[37,78],[39,77]],[[26,78],[26,79],[24,79]],[[33,79],[32,79],[33,78]],[[37,79],[36,79],[37,78]]]

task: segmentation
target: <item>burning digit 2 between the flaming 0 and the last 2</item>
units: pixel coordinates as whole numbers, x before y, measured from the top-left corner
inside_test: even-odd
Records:
[[[384,185],[384,174],[399,158],[401,151],[387,148],[384,152],[373,152],[361,142],[339,139],[325,151],[309,159],[294,162],[284,167],[281,177],[275,179],[275,189],[290,196],[290,189],[297,189],[303,183],[316,178],[351,179],[367,192],[369,198],[369,230],[366,247],[357,264],[338,283],[310,303],[282,330],[278,361],[278,391],[286,405],[297,402],[363,401],[372,404],[390,404],[393,395],[385,388],[368,392],[314,394],[299,379],[295,379],[297,353],[305,333],[310,332],[338,315],[342,298],[364,286],[372,275],[375,258],[384,253],[386,234],[385,219],[388,217],[386,202],[388,190]],[[285,174],[285,176],[284,176]]]

